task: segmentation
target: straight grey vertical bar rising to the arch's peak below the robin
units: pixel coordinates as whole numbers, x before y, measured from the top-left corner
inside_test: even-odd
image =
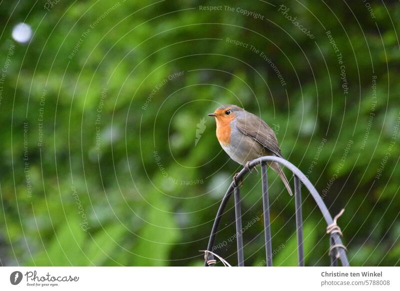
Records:
[[[262,181],[262,207],[264,215],[264,236],[265,236],[265,256],[266,267],[272,267],[272,243],[271,243],[271,222],[269,219],[269,198],[268,198],[268,176],[266,173],[266,163],[261,163]]]

